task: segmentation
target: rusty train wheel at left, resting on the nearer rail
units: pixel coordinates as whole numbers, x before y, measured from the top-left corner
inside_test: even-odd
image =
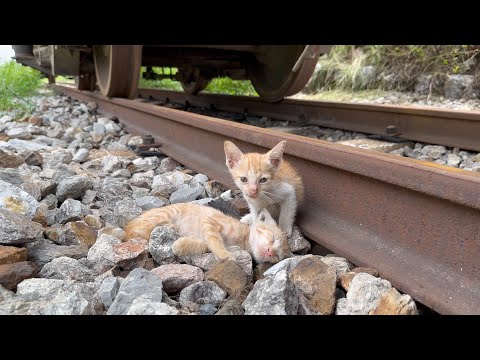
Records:
[[[135,96],[142,65],[142,45],[95,45],[93,58],[102,95]]]

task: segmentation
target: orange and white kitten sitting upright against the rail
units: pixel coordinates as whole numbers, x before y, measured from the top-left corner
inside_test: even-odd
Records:
[[[224,148],[230,174],[250,208],[250,214],[241,221],[249,223],[252,216],[255,218],[260,209],[266,208],[290,237],[304,189],[296,170],[282,160],[285,144],[281,141],[266,154],[243,154],[230,141],[225,141]]]

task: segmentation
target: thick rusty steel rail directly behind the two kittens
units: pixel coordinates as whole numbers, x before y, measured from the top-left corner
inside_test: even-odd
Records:
[[[129,132],[152,134],[164,154],[228,187],[234,184],[225,166],[224,140],[261,152],[287,140],[286,158],[305,182],[307,200],[297,223],[306,236],[357,266],[378,269],[382,278],[435,311],[480,313],[480,174],[57,88],[81,101],[95,101]],[[477,120],[468,121],[478,126]]]

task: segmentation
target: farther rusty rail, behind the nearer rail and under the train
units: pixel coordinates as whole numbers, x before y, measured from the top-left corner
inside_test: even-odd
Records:
[[[139,96],[480,151],[480,112],[293,99],[272,105],[246,96],[193,96],[155,89],[139,89]]]

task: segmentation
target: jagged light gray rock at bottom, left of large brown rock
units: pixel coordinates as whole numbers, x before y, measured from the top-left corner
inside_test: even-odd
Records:
[[[298,293],[286,270],[255,283],[243,302],[245,315],[296,315]]]

